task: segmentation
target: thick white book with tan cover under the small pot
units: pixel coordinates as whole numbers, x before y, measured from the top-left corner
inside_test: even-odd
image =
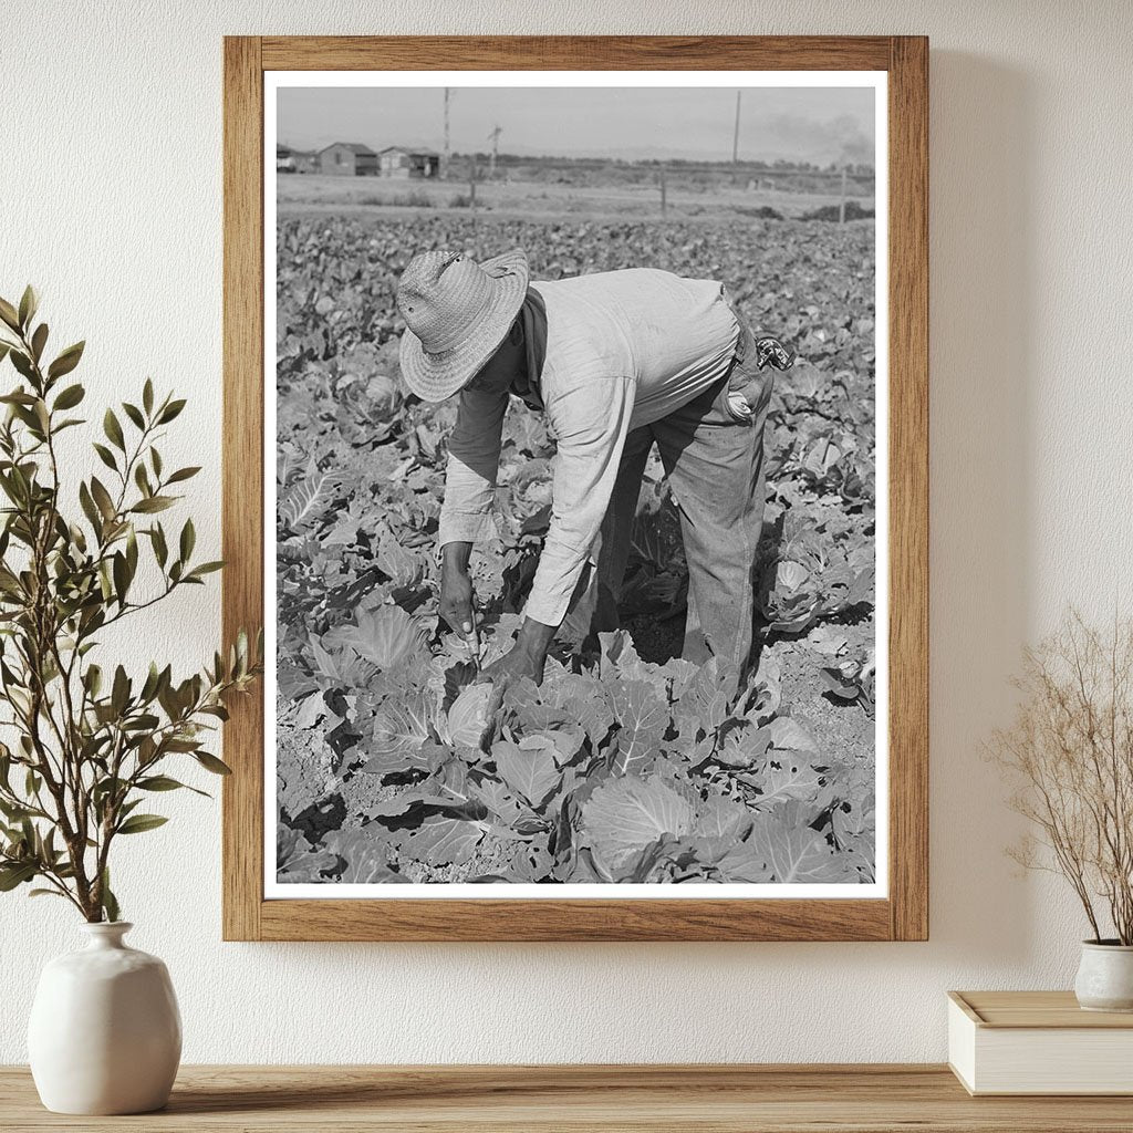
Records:
[[[1082,1011],[1073,991],[949,991],[948,1065],[972,1094],[1133,1094],[1133,1013]]]

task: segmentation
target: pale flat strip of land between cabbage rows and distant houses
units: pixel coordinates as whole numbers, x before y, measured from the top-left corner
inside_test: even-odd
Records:
[[[467,181],[399,180],[382,177],[324,177],[281,173],[276,201],[280,212],[303,213],[341,208],[455,210],[469,212]],[[708,190],[666,189],[665,216],[690,220],[726,219],[758,214],[774,208],[786,218],[798,218],[813,208],[837,205],[838,194],[792,193],[774,188],[713,187]],[[851,194],[847,201],[874,207],[872,194]],[[661,218],[659,186],[556,185],[547,181],[496,180],[476,185],[476,211],[531,218]]]

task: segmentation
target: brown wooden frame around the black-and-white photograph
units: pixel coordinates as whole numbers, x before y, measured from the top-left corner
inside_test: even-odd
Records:
[[[888,894],[884,898],[286,898],[264,892],[265,712],[224,727],[228,940],[923,940],[928,936],[928,41],[227,37],[223,632],[263,624],[264,74],[272,70],[888,73]]]

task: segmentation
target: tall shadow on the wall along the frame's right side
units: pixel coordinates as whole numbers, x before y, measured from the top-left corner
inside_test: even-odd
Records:
[[[1019,820],[981,755],[1032,621],[1032,86],[932,53],[930,935],[997,965],[1026,961],[1036,917],[1003,853]]]

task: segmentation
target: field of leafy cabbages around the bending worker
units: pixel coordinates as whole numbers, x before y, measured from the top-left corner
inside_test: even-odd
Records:
[[[687,579],[650,462],[624,625],[566,632],[487,689],[437,617],[455,407],[398,374],[399,273],[522,247],[533,278],[629,266],[727,283],[793,346],[767,425],[758,663],[674,657]],[[391,219],[278,230],[278,878],[283,883],[845,883],[875,870],[874,224]],[[517,402],[497,536],[474,554],[486,665],[519,625],[553,444]],[[577,627],[576,627],[577,630]]]

